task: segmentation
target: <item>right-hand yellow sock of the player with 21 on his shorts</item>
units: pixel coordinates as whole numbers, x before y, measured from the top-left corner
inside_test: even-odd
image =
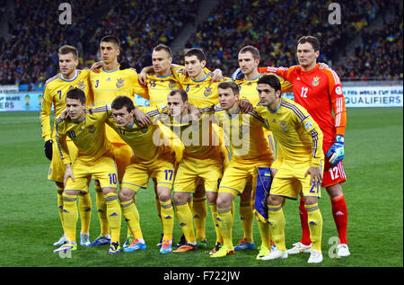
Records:
[[[304,208],[307,210],[312,249],[321,252],[322,216],[319,204],[304,205]]]

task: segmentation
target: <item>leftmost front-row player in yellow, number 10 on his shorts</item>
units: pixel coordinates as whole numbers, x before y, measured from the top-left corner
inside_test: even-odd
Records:
[[[121,213],[117,195],[117,167],[106,139],[105,121],[108,119],[107,105],[86,111],[86,98],[81,89],[74,88],[66,94],[66,111],[56,119],[57,150],[66,165],[65,190],[63,191],[63,222],[66,244],[54,252],[75,250],[75,227],[77,224],[77,195],[88,192],[92,177],[100,182],[106,203],[110,225],[110,254],[120,252],[119,234]],[[72,163],[66,147],[66,137],[75,143],[78,155]]]

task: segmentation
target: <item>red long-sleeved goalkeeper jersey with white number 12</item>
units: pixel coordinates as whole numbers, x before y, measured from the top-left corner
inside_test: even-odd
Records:
[[[336,135],[344,136],[347,109],[341,82],[334,70],[319,69],[317,65],[309,71],[294,66],[259,67],[259,72],[276,73],[294,85],[294,102],[309,111],[319,124],[325,144],[334,143]]]

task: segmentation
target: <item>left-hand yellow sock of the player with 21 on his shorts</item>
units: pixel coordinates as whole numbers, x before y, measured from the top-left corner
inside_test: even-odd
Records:
[[[282,205],[268,205],[268,222],[275,245],[285,252],[285,216]]]

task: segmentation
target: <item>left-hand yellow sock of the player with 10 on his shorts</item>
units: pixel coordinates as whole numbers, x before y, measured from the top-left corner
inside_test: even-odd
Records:
[[[75,242],[77,219],[77,195],[63,193],[63,223],[65,225],[66,238],[69,242]]]

